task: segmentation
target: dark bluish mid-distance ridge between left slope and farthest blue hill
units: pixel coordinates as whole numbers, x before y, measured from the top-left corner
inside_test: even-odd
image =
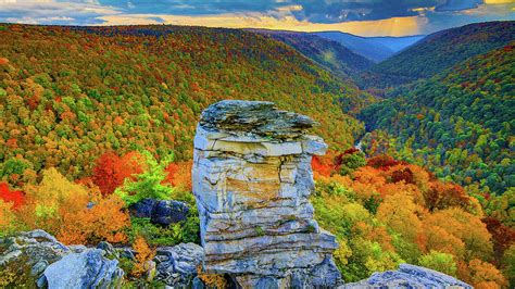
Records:
[[[315,34],[263,29],[253,29],[253,32],[293,47],[305,56],[339,76],[354,75],[374,64],[339,42],[322,38]]]

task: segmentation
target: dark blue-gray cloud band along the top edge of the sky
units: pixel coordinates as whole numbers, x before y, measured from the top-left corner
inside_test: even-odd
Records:
[[[476,8],[482,0],[99,0],[102,5],[123,9],[128,13],[203,15],[238,12],[271,12],[286,7],[298,20],[314,23],[385,20],[418,15],[436,8],[459,11]]]

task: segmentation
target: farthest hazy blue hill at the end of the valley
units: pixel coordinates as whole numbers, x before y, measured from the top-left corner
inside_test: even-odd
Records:
[[[424,36],[361,37],[341,32],[321,32],[314,34],[337,41],[374,62],[381,62],[424,38]]]

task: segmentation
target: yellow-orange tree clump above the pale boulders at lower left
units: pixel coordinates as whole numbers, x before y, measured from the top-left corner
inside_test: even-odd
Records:
[[[66,244],[126,240],[123,231],[130,223],[117,196],[103,198],[55,168],[46,169],[41,183],[25,191],[26,204],[17,215],[28,228],[45,229]]]

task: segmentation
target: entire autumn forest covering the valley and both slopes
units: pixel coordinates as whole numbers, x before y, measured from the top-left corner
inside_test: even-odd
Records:
[[[271,100],[319,122],[314,133],[330,146],[313,160],[311,201],[338,238],[346,281],[407,262],[477,288],[513,287],[514,46],[499,43],[514,26],[478,25],[466,26],[478,45],[463,47],[475,52],[455,55],[443,41],[449,66],[412,54],[413,67],[435,67],[410,71],[410,81],[431,78],[382,90],[381,101],[347,77],[369,63],[324,64],[330,52],[352,56],[336,42],[326,51],[318,39],[238,29],[1,25],[0,236],[42,228],[67,244],[130,244],[138,257],[122,266],[137,278],[156,246],[200,241],[190,175],[200,112],[222,99]],[[145,198],[193,210],[160,227],[128,214]],[[16,278],[0,269],[0,287]]]

